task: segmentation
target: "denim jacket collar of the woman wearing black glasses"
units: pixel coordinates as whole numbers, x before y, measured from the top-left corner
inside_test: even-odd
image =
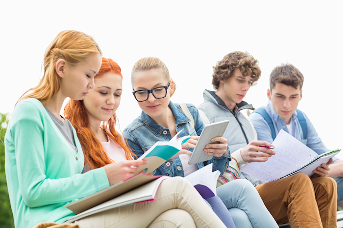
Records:
[[[171,101],[169,102],[169,106],[172,109],[172,113],[174,114],[176,124],[183,124],[190,122],[191,120],[186,116],[186,114],[182,111],[180,106],[177,104],[173,104]],[[141,118],[144,124],[157,136],[159,137],[160,134],[165,129],[163,126],[159,125],[154,121],[147,113],[142,111]]]

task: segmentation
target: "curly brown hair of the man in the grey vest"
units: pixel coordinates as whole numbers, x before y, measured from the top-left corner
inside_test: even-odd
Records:
[[[252,84],[261,77],[261,69],[258,66],[258,61],[249,53],[235,51],[225,55],[213,67],[213,87],[218,89],[220,81],[230,78],[236,68],[240,69],[243,76],[250,75],[253,80]]]

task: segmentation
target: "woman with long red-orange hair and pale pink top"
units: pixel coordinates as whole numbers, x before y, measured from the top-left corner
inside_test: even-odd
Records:
[[[82,146],[85,172],[114,162],[134,160],[135,155],[115,129],[122,80],[120,66],[111,59],[102,58],[95,88],[83,101],[71,99],[64,108]]]

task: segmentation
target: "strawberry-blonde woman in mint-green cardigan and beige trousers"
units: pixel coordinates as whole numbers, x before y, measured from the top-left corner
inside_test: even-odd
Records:
[[[81,100],[94,88],[101,54],[87,34],[61,32],[46,50],[42,80],[16,104],[5,135],[5,171],[16,228],[63,223],[74,215],[64,205],[131,177],[137,166],[145,164],[121,161],[81,174],[80,142],[59,113],[67,97]],[[163,181],[155,201],[107,210],[75,224],[82,228],[225,227],[181,178]]]

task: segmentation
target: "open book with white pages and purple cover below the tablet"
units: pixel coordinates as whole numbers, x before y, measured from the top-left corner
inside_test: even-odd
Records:
[[[221,172],[219,170],[212,172],[212,167],[211,163],[185,177],[204,199],[217,195],[217,180]]]

